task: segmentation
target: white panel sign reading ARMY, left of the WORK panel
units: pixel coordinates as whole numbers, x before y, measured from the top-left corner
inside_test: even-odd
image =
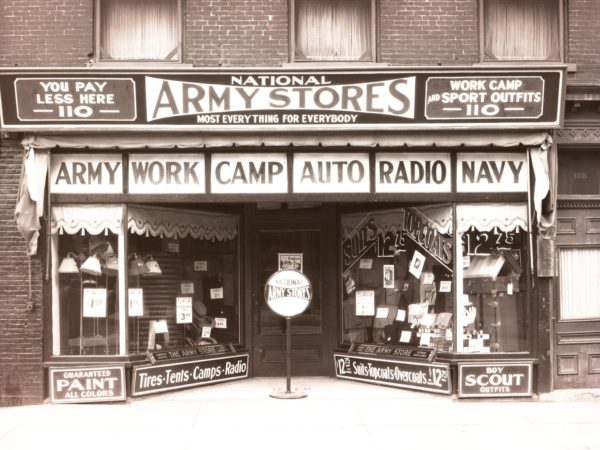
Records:
[[[123,161],[117,154],[53,154],[50,163],[53,194],[120,194]]]

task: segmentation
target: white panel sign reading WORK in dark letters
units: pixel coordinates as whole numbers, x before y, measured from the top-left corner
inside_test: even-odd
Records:
[[[204,194],[204,155],[192,153],[129,155],[129,193]]]

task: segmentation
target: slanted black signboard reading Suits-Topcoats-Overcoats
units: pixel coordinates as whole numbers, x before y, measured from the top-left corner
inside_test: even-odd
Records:
[[[333,358],[338,378],[450,394],[448,364],[347,354],[334,354]]]

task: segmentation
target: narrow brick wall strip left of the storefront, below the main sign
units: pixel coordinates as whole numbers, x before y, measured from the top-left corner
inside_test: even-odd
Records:
[[[22,158],[18,140],[0,142],[0,406],[35,404],[44,398],[42,258],[31,261],[34,309],[28,311],[29,258],[14,222]]]

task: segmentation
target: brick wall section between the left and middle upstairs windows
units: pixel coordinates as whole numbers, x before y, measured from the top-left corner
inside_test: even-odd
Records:
[[[188,1],[184,42],[197,66],[288,62],[288,0]]]

